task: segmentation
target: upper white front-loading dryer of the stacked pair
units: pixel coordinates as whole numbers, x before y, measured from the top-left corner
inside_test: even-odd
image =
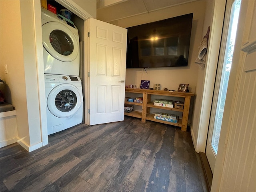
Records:
[[[79,75],[78,29],[59,15],[41,8],[44,73]]]

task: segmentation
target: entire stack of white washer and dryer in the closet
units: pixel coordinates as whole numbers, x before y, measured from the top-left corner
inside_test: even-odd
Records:
[[[48,135],[82,122],[78,29],[41,8]]]

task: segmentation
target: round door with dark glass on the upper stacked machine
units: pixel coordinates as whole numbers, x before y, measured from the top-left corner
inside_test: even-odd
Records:
[[[79,42],[72,31],[59,22],[48,22],[42,26],[43,46],[54,58],[70,62],[79,52]]]

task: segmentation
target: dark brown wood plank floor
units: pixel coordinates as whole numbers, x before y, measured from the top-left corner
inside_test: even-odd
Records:
[[[12,144],[0,155],[1,192],[207,190],[190,132],[127,116],[58,132],[30,153]]]

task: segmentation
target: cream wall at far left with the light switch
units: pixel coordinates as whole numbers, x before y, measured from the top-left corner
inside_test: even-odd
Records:
[[[28,131],[28,111],[26,100],[22,26],[20,18],[20,1],[0,1],[1,12],[1,79],[10,89],[9,97],[16,108],[18,136],[30,144]],[[4,65],[8,74],[4,73]]]

